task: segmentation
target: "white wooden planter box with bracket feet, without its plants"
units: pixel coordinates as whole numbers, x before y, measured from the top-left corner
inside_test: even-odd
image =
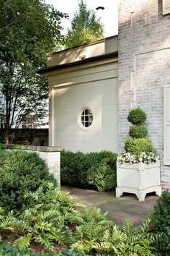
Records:
[[[121,197],[123,192],[135,194],[139,201],[144,201],[150,192],[161,196],[160,161],[149,164],[117,162],[116,197]]]

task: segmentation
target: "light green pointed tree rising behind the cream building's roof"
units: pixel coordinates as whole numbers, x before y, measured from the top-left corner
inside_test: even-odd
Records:
[[[80,46],[104,37],[104,26],[93,9],[87,7],[86,1],[79,1],[79,9],[71,20],[71,28],[66,35],[66,48]]]

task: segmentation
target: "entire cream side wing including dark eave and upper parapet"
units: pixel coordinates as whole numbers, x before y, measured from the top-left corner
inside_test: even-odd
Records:
[[[73,152],[117,152],[117,36],[50,54],[44,74],[49,85],[49,145]],[[84,107],[93,114],[86,130],[78,123]]]

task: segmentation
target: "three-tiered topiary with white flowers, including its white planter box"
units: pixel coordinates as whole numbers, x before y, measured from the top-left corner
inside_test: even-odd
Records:
[[[156,192],[161,195],[160,161],[153,150],[152,141],[147,138],[148,129],[143,124],[146,113],[140,107],[133,108],[128,114],[130,137],[125,140],[125,153],[117,156],[116,197],[123,192],[133,193],[139,201],[144,201],[146,194]]]

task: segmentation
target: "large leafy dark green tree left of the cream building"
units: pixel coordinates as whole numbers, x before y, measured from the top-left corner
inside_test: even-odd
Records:
[[[4,103],[6,142],[22,116],[45,116],[48,83],[36,74],[45,67],[47,53],[61,43],[61,19],[44,0],[0,0],[0,95]]]

